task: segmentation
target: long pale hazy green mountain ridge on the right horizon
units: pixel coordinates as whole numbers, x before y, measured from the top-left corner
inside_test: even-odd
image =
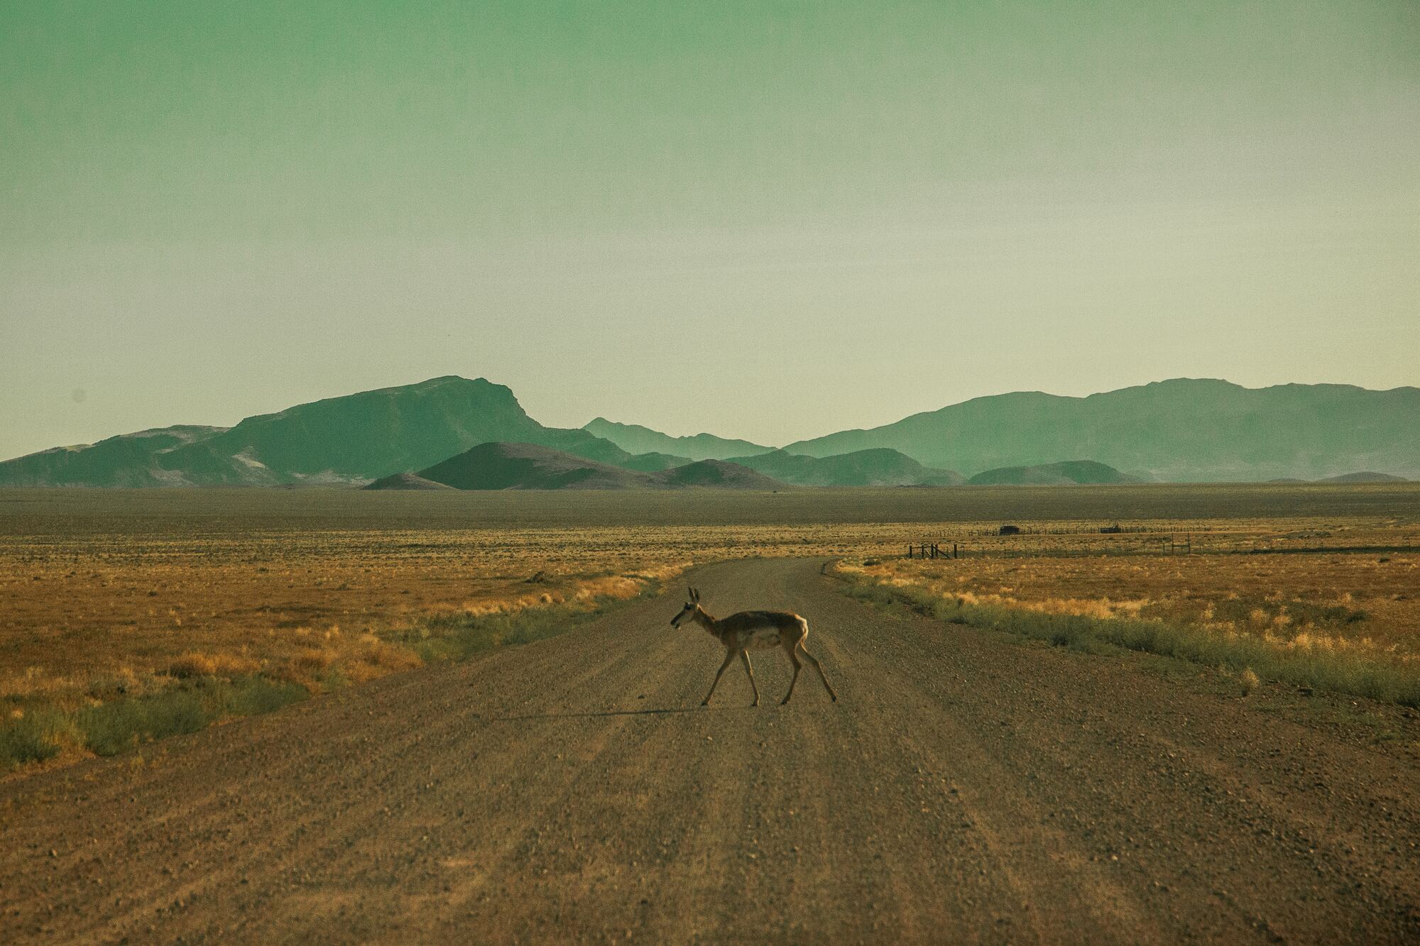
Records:
[[[1163,482],[1319,479],[1352,470],[1420,477],[1420,388],[1241,388],[1174,379],[1088,398],[976,398],[870,430],[799,440],[834,456],[892,447],[932,467],[978,473],[1089,456]]]

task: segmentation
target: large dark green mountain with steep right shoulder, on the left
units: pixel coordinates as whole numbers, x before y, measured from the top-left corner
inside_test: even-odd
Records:
[[[277,486],[366,483],[477,443],[547,443],[629,460],[586,430],[544,428],[503,385],[433,378],[297,405],[233,428],[178,426],[0,463],[0,486]]]

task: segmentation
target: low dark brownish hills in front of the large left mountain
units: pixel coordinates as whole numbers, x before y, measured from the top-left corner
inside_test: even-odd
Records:
[[[784,486],[720,460],[642,473],[534,443],[480,443],[420,470],[419,477],[460,490],[660,490],[690,486],[772,490]]]

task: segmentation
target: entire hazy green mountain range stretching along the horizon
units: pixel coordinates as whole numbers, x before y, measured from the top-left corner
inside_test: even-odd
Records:
[[[605,418],[548,428],[503,385],[444,376],[231,428],[179,425],[41,450],[0,463],[0,486],[365,484],[422,474],[487,443],[545,447],[575,457],[578,469],[604,477],[611,474],[602,467],[618,470],[612,479],[621,483],[656,489],[686,484],[656,474],[706,460],[733,469],[699,466],[679,479],[743,484],[758,482],[747,479],[754,473],[768,489],[947,486],[963,474],[973,483],[1257,482],[1379,470],[1365,474],[1376,482],[1420,477],[1420,389],[1174,379],[1088,398],[1017,392],[774,449]],[[551,460],[542,460],[537,476],[551,476]],[[439,480],[429,483],[435,489]]]

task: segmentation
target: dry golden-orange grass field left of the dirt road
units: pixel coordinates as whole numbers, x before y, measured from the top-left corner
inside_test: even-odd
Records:
[[[419,663],[385,631],[630,598],[684,564],[594,553],[571,571],[532,553],[541,538],[214,534],[125,548],[119,537],[75,537],[44,554],[11,540],[0,545],[0,700],[72,703],[115,668],[135,678],[133,692],[155,676],[266,673],[315,690],[334,668],[368,680]],[[596,574],[626,565],[636,577]]]

